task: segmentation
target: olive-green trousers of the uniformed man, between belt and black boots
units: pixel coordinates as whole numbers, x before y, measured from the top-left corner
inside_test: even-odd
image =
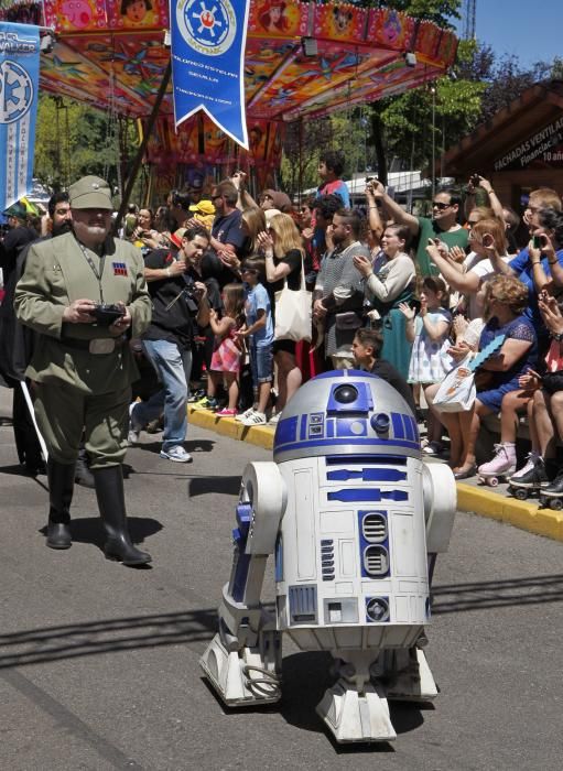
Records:
[[[84,431],[91,469],[123,463],[130,400],[130,387],[91,395],[61,380],[36,383],[35,417],[50,457],[75,463]]]

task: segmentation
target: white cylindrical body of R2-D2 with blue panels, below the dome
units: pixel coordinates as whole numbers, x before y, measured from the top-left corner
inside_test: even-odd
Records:
[[[378,455],[280,464],[278,627],[303,650],[416,641],[429,620],[421,467]]]

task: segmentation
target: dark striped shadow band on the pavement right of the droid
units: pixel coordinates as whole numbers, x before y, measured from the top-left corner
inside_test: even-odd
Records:
[[[432,587],[432,612],[457,613],[563,601],[563,575]]]

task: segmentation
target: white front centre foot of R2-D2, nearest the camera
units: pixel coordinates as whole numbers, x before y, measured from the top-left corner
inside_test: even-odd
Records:
[[[397,734],[382,692],[366,683],[358,691],[344,680],[328,688],[316,707],[338,742],[392,741]]]

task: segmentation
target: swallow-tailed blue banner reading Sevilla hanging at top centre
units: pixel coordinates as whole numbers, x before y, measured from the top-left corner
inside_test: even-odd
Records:
[[[176,128],[197,110],[248,150],[245,47],[249,0],[171,0]]]

